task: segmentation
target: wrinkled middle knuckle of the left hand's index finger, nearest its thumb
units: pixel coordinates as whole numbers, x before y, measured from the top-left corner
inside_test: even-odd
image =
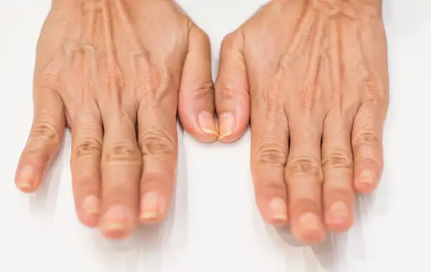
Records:
[[[152,129],[139,136],[139,148],[143,156],[172,155],[176,153],[176,141],[164,131]]]

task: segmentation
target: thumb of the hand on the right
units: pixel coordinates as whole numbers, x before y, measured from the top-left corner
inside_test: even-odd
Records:
[[[220,141],[237,140],[249,124],[249,83],[243,38],[239,32],[227,35],[220,49],[220,68],[215,82],[215,108]]]

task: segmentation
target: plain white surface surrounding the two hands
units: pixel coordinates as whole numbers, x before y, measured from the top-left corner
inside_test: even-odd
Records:
[[[35,195],[18,193],[13,176],[32,120],[35,45],[51,1],[0,0],[0,271],[430,272],[431,1],[383,1],[391,106],[382,184],[359,198],[349,233],[303,247],[257,212],[249,133],[232,145],[180,133],[170,219],[123,242],[108,242],[77,221],[69,136],[49,185]],[[180,4],[211,37],[216,68],[221,39],[263,1]]]

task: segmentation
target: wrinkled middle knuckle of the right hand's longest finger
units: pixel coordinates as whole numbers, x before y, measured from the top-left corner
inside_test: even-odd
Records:
[[[320,162],[312,157],[296,157],[287,163],[286,170],[289,176],[313,176],[323,180]]]

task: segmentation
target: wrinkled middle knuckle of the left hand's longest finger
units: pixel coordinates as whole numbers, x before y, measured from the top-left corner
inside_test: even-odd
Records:
[[[106,162],[142,163],[142,156],[135,143],[131,141],[118,141],[114,143],[106,153]]]

